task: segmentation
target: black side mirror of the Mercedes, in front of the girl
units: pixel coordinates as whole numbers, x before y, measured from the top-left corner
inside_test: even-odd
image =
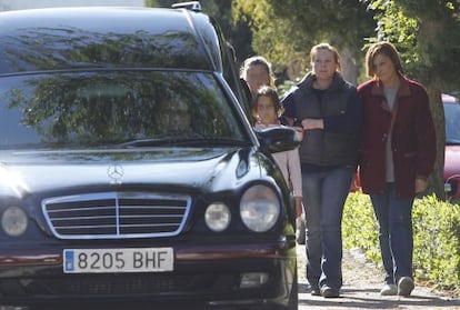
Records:
[[[293,150],[301,142],[299,132],[291,127],[269,127],[254,131],[261,143],[272,153]]]

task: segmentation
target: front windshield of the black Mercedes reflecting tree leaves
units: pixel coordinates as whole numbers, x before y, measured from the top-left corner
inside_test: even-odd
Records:
[[[203,72],[0,77],[0,149],[248,140],[217,79]]]

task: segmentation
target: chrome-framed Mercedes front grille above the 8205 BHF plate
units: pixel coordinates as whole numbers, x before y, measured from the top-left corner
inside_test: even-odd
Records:
[[[180,233],[190,210],[189,196],[99,192],[48,198],[42,210],[60,239],[121,239]]]

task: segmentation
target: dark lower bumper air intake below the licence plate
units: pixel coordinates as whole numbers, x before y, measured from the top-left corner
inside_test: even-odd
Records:
[[[191,293],[206,293],[208,296],[212,293],[227,293],[229,296],[238,288],[239,282],[239,274],[224,271],[213,273],[199,272],[199,274],[159,274],[150,272],[123,274],[122,277],[113,273],[77,276],[71,277],[71,279],[67,277],[32,277],[9,279],[0,282],[0,297],[11,291],[14,291],[16,298],[23,301],[28,301],[32,297],[48,297],[57,300],[59,298],[82,297],[83,301],[84,298],[91,297],[129,297],[136,300],[136,297],[157,296],[161,298],[161,296],[167,297],[174,293],[181,294],[181,297],[190,297],[192,296]],[[1,306],[0,309],[2,309]],[[100,309],[107,308],[101,307]],[[119,308],[114,307],[113,309]]]

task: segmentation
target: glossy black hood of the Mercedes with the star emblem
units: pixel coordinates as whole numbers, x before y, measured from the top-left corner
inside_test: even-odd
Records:
[[[260,178],[256,157],[251,148],[2,151],[0,191],[23,194],[132,184],[219,190],[250,171]]]

